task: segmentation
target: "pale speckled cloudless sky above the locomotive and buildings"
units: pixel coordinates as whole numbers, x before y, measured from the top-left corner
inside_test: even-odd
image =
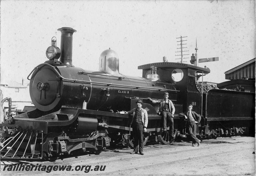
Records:
[[[176,39],[185,38],[190,58],[219,57],[199,63],[211,73],[204,81],[220,83],[228,71],[255,57],[254,0],[75,1],[2,0],[0,4],[0,83],[25,82],[47,60],[53,36],[60,47],[60,27],[73,34],[73,65],[99,69],[99,56],[111,48],[119,55],[119,72],[142,76],[139,65],[178,62]],[[190,59],[184,63],[190,64]]]

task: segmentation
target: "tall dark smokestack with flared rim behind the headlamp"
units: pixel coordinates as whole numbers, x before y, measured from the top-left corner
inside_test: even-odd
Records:
[[[73,33],[76,32],[76,30],[70,27],[62,27],[59,28],[58,31],[61,32],[60,62],[72,66],[72,41]]]

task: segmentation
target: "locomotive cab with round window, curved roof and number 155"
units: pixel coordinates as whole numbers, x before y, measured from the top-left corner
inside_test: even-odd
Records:
[[[210,69],[185,63],[156,62],[138,66],[138,69],[142,69],[142,77],[147,77],[152,66],[158,68],[159,82],[174,84],[180,91],[175,104],[180,104],[183,108],[177,114],[186,111],[190,104],[194,106],[193,109],[196,112],[201,112],[201,92],[197,89],[196,84],[200,76],[210,73]]]

